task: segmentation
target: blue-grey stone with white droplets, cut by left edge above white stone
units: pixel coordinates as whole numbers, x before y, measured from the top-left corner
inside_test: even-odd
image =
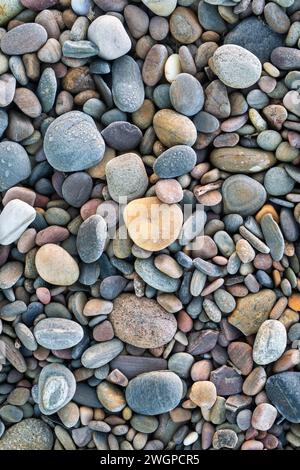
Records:
[[[16,142],[0,143],[0,191],[6,191],[30,176],[31,164],[26,150]]]

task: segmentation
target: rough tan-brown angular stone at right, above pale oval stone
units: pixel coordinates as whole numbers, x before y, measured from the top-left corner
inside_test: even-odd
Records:
[[[270,289],[248,294],[238,299],[236,309],[228,317],[228,321],[245,336],[253,335],[267,320],[275,302],[276,294]]]

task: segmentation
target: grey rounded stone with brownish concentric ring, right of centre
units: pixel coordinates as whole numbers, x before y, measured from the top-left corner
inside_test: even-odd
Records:
[[[226,214],[247,216],[255,214],[265,203],[265,188],[246,175],[233,175],[222,186],[223,205]]]

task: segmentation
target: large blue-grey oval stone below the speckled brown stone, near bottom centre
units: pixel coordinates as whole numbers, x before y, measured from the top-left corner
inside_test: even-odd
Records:
[[[182,392],[178,375],[170,371],[156,371],[132,379],[126,388],[126,400],[136,413],[153,416],[176,408]]]

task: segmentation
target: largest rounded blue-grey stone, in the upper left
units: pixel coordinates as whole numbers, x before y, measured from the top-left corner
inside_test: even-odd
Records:
[[[44,152],[50,165],[59,171],[81,171],[99,163],[105,144],[93,119],[81,111],[70,111],[48,127]]]

